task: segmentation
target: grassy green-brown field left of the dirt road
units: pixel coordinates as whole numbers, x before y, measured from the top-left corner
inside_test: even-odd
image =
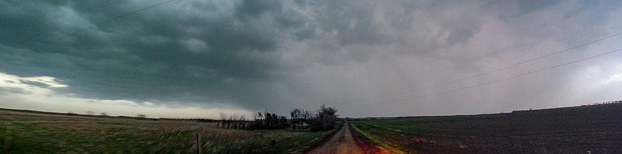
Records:
[[[215,123],[0,110],[0,153],[191,153],[198,133],[202,153],[288,153],[330,131],[243,131]]]

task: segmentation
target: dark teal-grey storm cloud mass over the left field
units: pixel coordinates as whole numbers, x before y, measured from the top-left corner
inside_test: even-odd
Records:
[[[59,77],[70,88],[58,91],[97,99],[241,102],[269,95],[245,86],[280,71],[272,25],[304,22],[280,1],[191,1],[97,24],[150,2],[5,1],[2,71]]]

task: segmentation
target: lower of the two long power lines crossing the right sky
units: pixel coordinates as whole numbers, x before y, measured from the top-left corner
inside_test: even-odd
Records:
[[[442,92],[439,92],[439,93],[433,93],[433,94],[428,94],[428,95],[419,95],[419,96],[415,96],[415,97],[408,97],[408,98],[405,98],[405,99],[397,99],[397,100],[393,100],[393,101],[389,101],[389,102],[380,102],[380,103],[377,103],[377,104],[393,104],[393,103],[402,102],[402,101],[405,101],[405,100],[408,100],[408,99],[417,99],[417,98],[420,98],[420,97],[427,97],[427,96],[431,96],[431,95],[440,95],[440,94],[444,94],[444,93],[452,93],[452,92],[459,91],[459,90],[475,88],[475,87],[484,86],[484,85],[488,85],[488,84],[494,84],[494,83],[501,82],[501,81],[507,81],[507,80],[510,80],[510,79],[516,79],[518,77],[522,77],[522,76],[529,75],[529,74],[532,74],[532,73],[538,73],[538,72],[541,72],[543,70],[549,70],[549,69],[553,69],[553,68],[558,68],[560,66],[566,66],[568,64],[573,64],[573,63],[576,63],[576,62],[579,62],[579,61],[584,61],[584,60],[592,59],[592,58],[595,58],[595,57],[601,57],[603,55],[607,55],[607,54],[610,54],[610,53],[613,53],[613,52],[618,52],[620,50],[622,50],[622,48],[621,49],[617,49],[617,50],[611,50],[609,52],[603,52],[603,53],[601,53],[599,55],[585,57],[583,59],[569,61],[569,62],[566,62],[564,64],[559,64],[559,65],[556,65],[556,66],[550,66],[550,67],[547,67],[547,68],[541,68],[541,69],[534,70],[534,71],[527,72],[527,73],[521,73],[521,74],[515,75],[513,77],[507,77],[507,78],[504,78],[504,79],[498,79],[498,80],[495,80],[495,81],[489,81],[489,82],[486,82],[486,83],[483,83],[483,84],[477,84],[477,85],[473,85],[473,86],[466,86],[466,87],[463,87],[463,88],[446,90],[446,91],[442,91]],[[366,106],[366,105],[373,105],[373,104],[376,104],[376,103],[358,104],[358,105],[353,105],[352,107],[359,107],[359,106]]]

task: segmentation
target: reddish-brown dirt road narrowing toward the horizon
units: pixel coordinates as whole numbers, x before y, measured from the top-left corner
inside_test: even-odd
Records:
[[[391,153],[391,151],[370,142],[346,122],[330,139],[310,148],[306,153]]]

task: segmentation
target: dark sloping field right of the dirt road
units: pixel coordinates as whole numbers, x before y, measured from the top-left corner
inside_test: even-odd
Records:
[[[409,153],[622,153],[622,104],[350,123]]]

